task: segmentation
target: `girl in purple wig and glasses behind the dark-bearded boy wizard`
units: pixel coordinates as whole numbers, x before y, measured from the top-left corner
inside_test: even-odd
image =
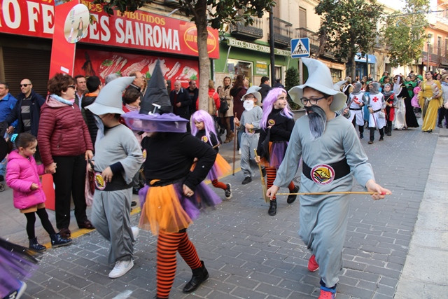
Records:
[[[274,88],[270,90],[263,101],[263,115],[260,120],[260,138],[258,139],[255,161],[261,163],[266,169],[267,188],[271,188],[286,153],[289,137],[293,132],[293,113],[289,109],[286,90]],[[260,158],[261,157],[261,158]],[[288,185],[290,193],[297,193],[299,188],[291,181]],[[289,195],[286,202],[292,204],[297,195]],[[276,214],[276,197],[269,202],[267,214]]]

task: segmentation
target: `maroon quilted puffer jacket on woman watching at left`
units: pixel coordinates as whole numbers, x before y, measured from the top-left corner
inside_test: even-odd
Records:
[[[52,97],[41,108],[37,136],[43,165],[54,162],[52,156],[76,156],[93,151],[92,139],[78,106]]]

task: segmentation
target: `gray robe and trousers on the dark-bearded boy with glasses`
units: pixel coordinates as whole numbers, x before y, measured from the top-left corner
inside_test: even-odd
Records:
[[[285,158],[277,171],[275,186],[288,186],[297,172],[300,157],[311,169],[346,158],[351,171],[351,174],[323,184],[308,179],[302,173],[300,192],[350,191],[353,176],[362,186],[369,179],[374,179],[353,125],[342,116],[328,120],[325,132],[316,140],[311,137],[308,116],[295,122]],[[316,255],[319,274],[327,287],[337,284],[337,276],[342,270],[348,211],[349,195],[300,195],[299,235]]]

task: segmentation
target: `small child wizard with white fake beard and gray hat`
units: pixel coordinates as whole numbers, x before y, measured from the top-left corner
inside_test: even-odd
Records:
[[[260,108],[261,94],[258,92],[259,86],[251,86],[245,95],[241,97],[244,101],[244,111],[241,114],[241,120],[234,118],[235,130],[242,131],[241,135],[241,171],[244,174],[243,185],[252,181],[253,170],[251,167],[255,165],[255,153],[253,148],[258,146],[258,138],[260,137],[260,120],[263,111]]]

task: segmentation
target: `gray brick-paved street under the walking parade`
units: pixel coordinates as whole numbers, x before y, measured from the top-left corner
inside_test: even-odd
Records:
[[[351,198],[338,299],[393,298],[438,132],[393,131],[381,142],[377,136],[372,145],[362,140],[377,181],[393,195],[376,202],[366,195]],[[232,144],[224,144],[221,153],[229,160]],[[242,179],[241,172],[222,179],[232,184],[232,199],[202,214],[188,229],[210,278],[195,293],[181,293],[191,272],[178,256],[170,298],[316,298],[318,272],[308,272],[310,253],[297,235],[299,199],[287,204],[286,196],[279,196],[276,216],[268,216],[259,176],[247,185],[241,185]],[[355,184],[353,190],[362,188]],[[223,190],[216,191],[224,198]],[[138,216],[132,216],[134,224]],[[26,237],[25,230],[21,234]],[[109,244],[98,232],[89,232],[71,246],[43,253],[23,298],[153,298],[155,245],[155,237],[141,230],[134,268],[123,277],[109,279]]]

